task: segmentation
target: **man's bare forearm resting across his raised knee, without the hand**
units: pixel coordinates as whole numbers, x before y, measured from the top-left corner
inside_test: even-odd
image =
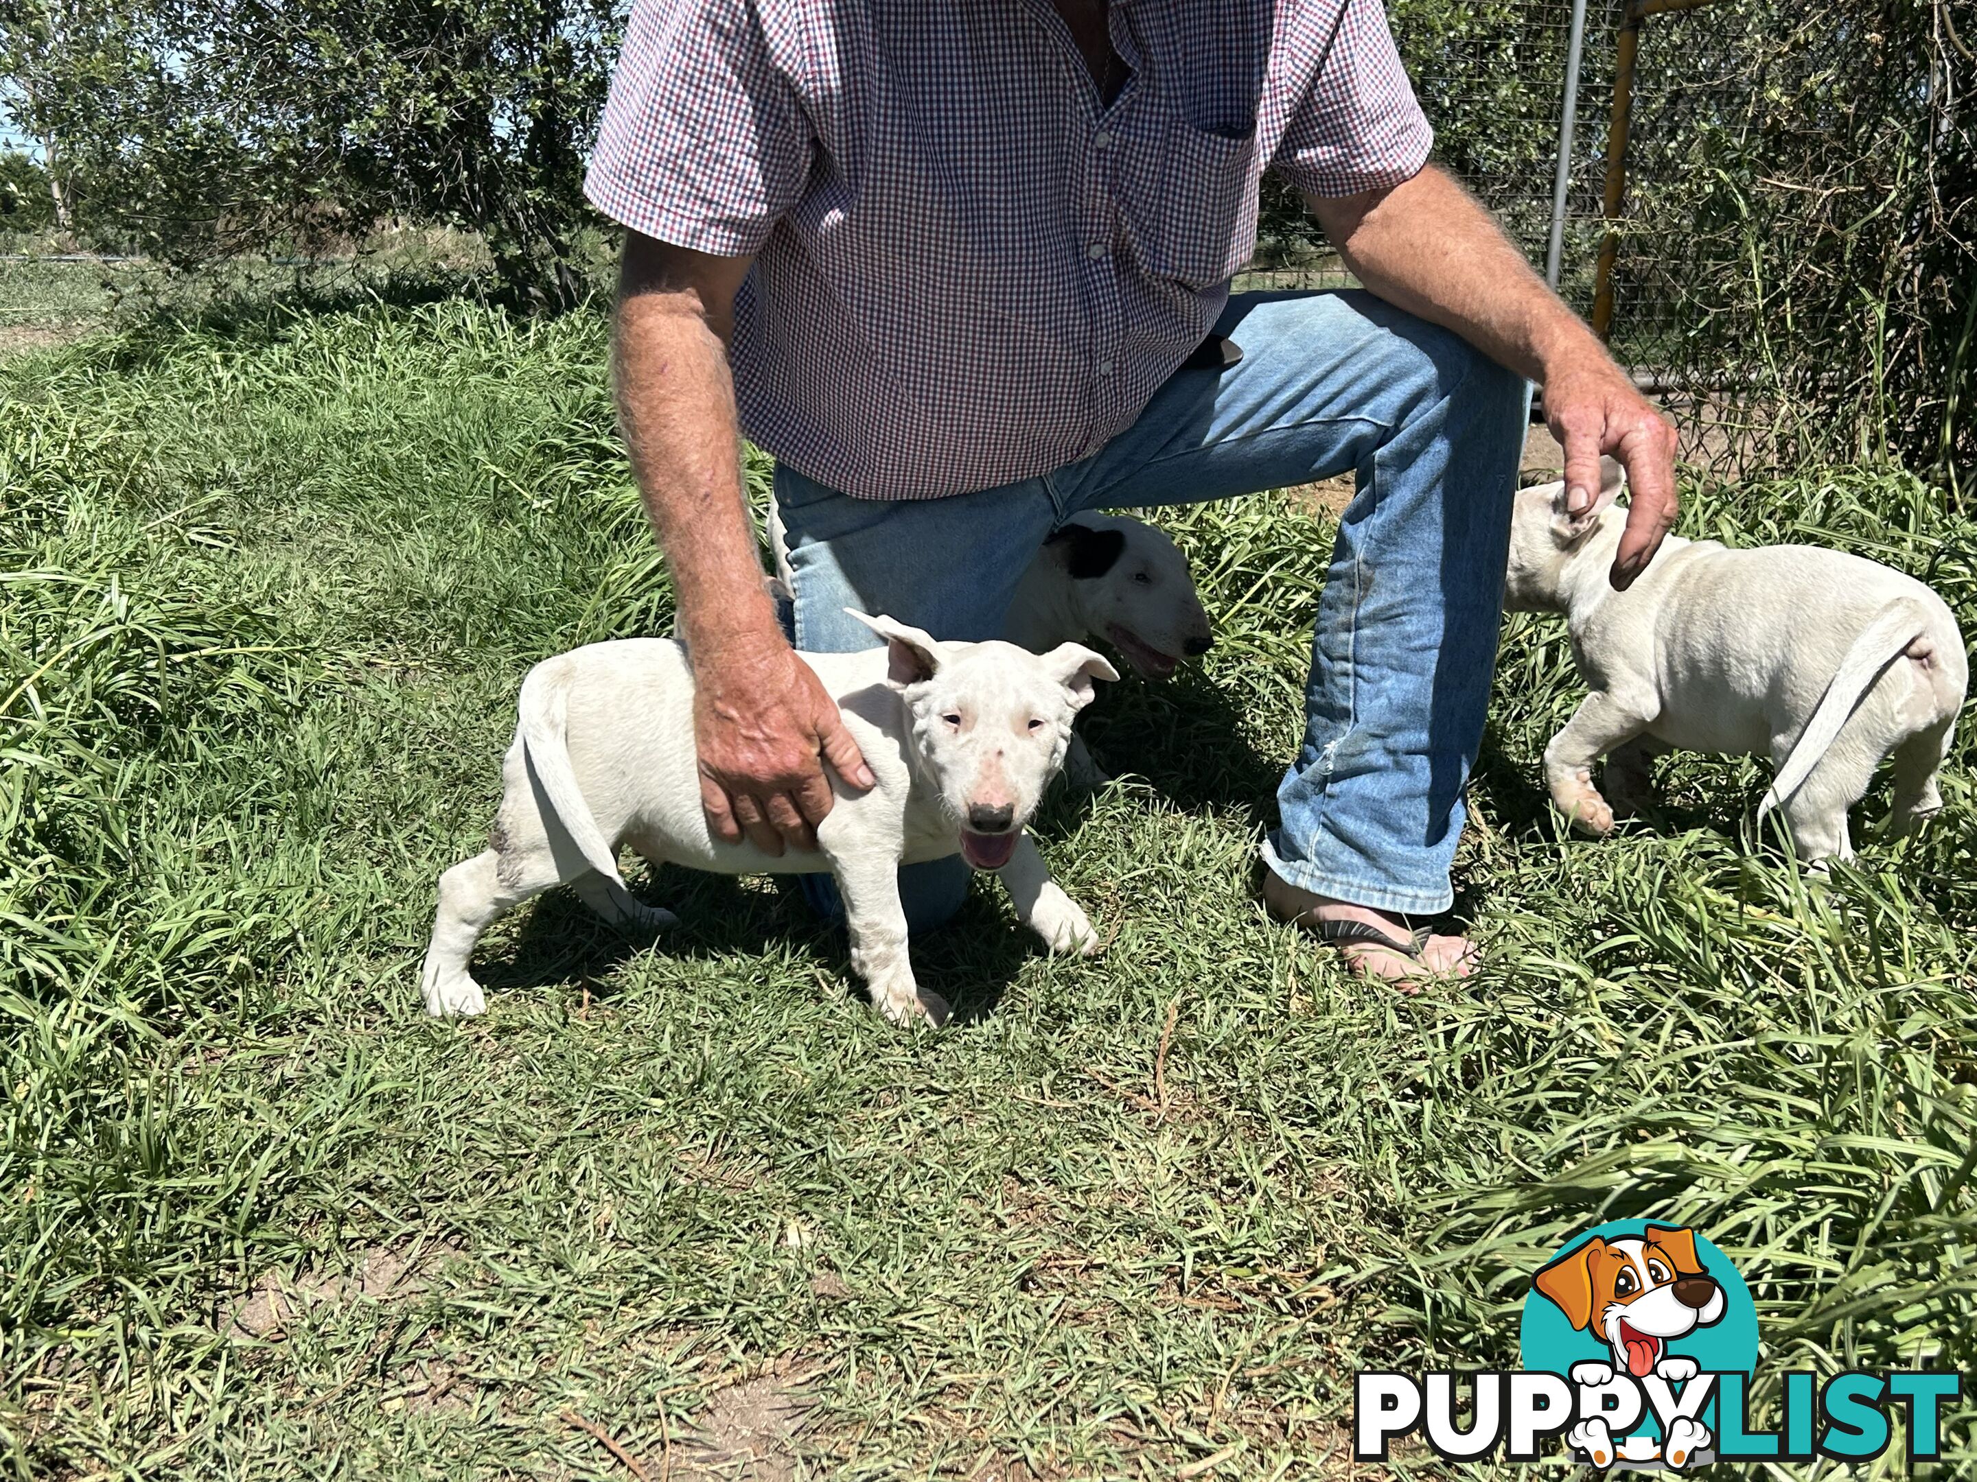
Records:
[[[1580,316],[1443,170],[1427,166],[1386,192],[1309,204],[1372,292],[1455,330],[1518,375],[1544,381],[1560,358],[1605,358]]]

